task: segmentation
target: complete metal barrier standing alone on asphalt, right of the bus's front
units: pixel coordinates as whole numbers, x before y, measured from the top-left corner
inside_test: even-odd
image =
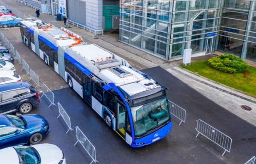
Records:
[[[230,153],[232,139],[229,136],[215,129],[206,122],[203,122],[201,119],[198,119],[196,121],[197,127],[195,129],[198,132],[198,134],[200,133],[207,139],[222,147],[225,150],[224,153]],[[198,134],[195,136],[195,138],[198,136]],[[222,156],[224,155],[224,153],[222,154]]]

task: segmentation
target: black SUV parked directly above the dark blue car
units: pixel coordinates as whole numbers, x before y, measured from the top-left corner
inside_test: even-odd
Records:
[[[29,113],[41,99],[35,87],[28,82],[11,82],[0,85],[0,114]]]

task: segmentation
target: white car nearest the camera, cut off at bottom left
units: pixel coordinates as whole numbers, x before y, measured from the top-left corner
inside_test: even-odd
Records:
[[[1,149],[0,164],[66,164],[66,158],[54,144],[35,144]]]

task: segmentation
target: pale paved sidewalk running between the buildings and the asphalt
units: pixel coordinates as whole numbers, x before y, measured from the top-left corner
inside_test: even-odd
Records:
[[[2,1],[3,3],[6,3],[7,5],[21,11],[22,15],[35,15],[34,9],[29,8],[24,4],[10,0]],[[41,13],[39,19],[47,23],[51,23],[58,28],[61,28],[64,25],[63,21],[56,21],[54,15],[47,15]],[[118,34],[95,35],[93,33],[90,33],[89,31],[85,31],[75,26],[72,26],[72,28],[69,28],[69,30],[80,35],[84,39],[84,42],[87,42],[88,44],[95,43],[113,52],[114,54],[117,54],[120,57],[128,60],[128,62],[138,70],[152,68],[159,65],[163,69],[169,71],[170,74],[173,74],[190,87],[194,88],[207,98],[211,99],[213,102],[217,103],[218,105],[229,110],[231,113],[236,114],[237,116],[256,126],[256,98],[247,96],[246,94],[241,93],[237,90],[228,88],[224,85],[220,85],[216,82],[212,82],[209,79],[205,79],[177,67],[178,65],[182,64],[182,60],[167,62],[163,59],[154,57],[153,55],[150,55],[144,51],[140,51],[137,48],[133,48],[122,42],[119,42]],[[207,55],[203,57],[195,57],[192,58],[192,62],[206,59],[209,57],[212,56]],[[247,105],[251,107],[252,110],[243,110],[241,109],[241,105]]]

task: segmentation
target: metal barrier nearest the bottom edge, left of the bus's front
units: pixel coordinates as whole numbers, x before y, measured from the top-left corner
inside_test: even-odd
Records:
[[[79,129],[78,126],[76,126],[76,143],[79,141],[80,144],[84,147],[84,149],[87,151],[89,156],[93,159],[93,161],[90,163],[92,164],[93,162],[98,162],[96,161],[96,150],[93,144],[87,139],[87,137],[84,135],[84,133]],[[74,145],[76,146],[76,144]]]

